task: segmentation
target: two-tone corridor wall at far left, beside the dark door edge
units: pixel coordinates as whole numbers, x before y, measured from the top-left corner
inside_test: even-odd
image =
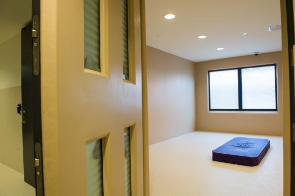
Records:
[[[23,173],[21,116],[21,34],[0,44],[0,162]]]

